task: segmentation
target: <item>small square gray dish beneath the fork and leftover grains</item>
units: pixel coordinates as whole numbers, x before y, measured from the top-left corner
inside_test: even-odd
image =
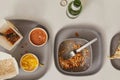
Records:
[[[63,42],[61,42],[60,46],[59,46],[59,53],[63,50],[64,53],[68,53],[72,50],[74,50],[74,45],[77,44],[77,45],[84,45],[88,43],[87,40],[85,39],[81,39],[81,38],[69,38],[69,39],[65,39]],[[76,73],[76,72],[83,72],[83,71],[86,71],[87,69],[89,69],[89,67],[92,65],[92,47],[91,45],[86,47],[86,49],[88,50],[88,53],[89,53],[89,56],[84,56],[85,53],[81,53],[83,54],[83,56],[85,57],[85,66],[83,67],[78,67],[78,68],[75,68],[75,70],[63,70],[61,67],[60,67],[60,64],[59,64],[59,69],[64,72],[64,73],[69,73],[69,72],[72,72],[72,73]],[[59,55],[59,54],[58,54]],[[59,56],[57,56],[58,58]],[[59,61],[59,60],[58,60]],[[59,62],[58,62],[59,63]]]

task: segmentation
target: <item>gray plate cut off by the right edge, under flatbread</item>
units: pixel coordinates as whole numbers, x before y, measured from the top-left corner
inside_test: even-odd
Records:
[[[110,46],[110,56],[112,56],[115,53],[115,50],[118,47],[118,44],[120,42],[120,33],[116,34],[111,41],[111,46]],[[114,68],[120,70],[120,59],[112,59],[111,63]]]

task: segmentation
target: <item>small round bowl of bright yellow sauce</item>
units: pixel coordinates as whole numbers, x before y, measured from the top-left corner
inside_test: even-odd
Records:
[[[20,66],[24,71],[33,72],[38,68],[39,61],[38,58],[32,54],[27,53],[22,56],[20,60]]]

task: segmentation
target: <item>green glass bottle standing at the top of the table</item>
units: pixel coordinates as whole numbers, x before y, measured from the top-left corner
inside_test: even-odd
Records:
[[[80,0],[74,0],[69,3],[66,14],[69,18],[77,18],[82,10],[82,4]]]

